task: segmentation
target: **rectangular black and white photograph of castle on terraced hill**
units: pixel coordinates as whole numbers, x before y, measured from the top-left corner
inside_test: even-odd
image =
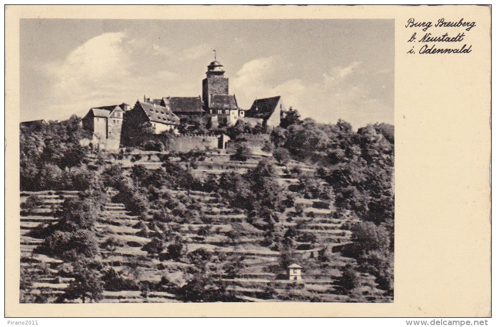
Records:
[[[19,33],[20,303],[394,301],[394,20]]]

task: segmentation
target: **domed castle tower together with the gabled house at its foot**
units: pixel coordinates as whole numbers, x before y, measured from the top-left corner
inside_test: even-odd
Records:
[[[207,66],[207,77],[202,82],[203,109],[217,116],[219,125],[234,125],[245,110],[238,107],[236,95],[229,94],[229,78],[224,77],[224,67],[219,61]]]

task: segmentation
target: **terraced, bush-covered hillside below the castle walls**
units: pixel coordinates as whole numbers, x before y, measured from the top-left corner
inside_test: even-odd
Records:
[[[326,156],[350,159],[322,165],[280,131],[111,153],[50,128],[21,138],[21,302],[392,301],[390,143],[373,130],[338,129]]]

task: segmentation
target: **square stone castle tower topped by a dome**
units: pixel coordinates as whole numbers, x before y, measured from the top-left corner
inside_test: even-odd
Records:
[[[219,61],[210,62],[207,66],[207,78],[202,83],[202,99],[205,111],[210,111],[213,95],[229,94],[229,78],[224,77],[224,67]]]

